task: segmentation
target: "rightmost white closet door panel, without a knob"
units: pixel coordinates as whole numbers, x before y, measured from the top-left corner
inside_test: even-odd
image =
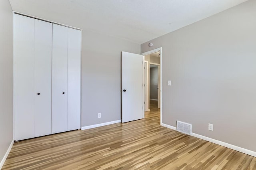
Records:
[[[68,130],[81,128],[81,31],[68,28]]]

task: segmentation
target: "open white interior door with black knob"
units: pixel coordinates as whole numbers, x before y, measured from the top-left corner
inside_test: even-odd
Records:
[[[122,51],[122,123],[144,115],[144,56]]]

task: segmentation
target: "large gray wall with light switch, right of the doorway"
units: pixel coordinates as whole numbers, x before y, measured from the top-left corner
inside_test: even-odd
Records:
[[[163,49],[163,123],[256,151],[255,16],[249,0],[141,45]]]

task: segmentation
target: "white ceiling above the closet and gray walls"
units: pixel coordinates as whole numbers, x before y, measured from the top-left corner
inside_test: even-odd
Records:
[[[16,12],[144,43],[247,0],[10,0]]]

